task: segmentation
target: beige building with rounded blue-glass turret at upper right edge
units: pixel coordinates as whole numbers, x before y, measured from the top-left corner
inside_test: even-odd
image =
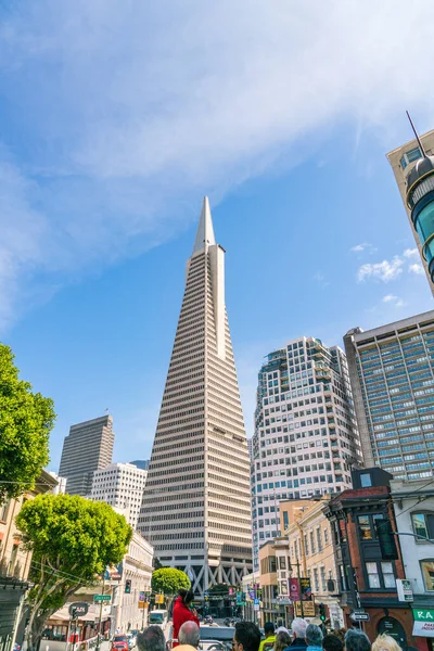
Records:
[[[434,294],[434,130],[388,152],[411,231]]]

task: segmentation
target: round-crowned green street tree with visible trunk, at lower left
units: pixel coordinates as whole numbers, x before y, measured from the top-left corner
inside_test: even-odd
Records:
[[[47,620],[78,587],[95,583],[106,565],[124,558],[132,529],[104,502],[78,495],[38,495],[16,516],[26,549],[33,551],[27,643],[35,649]]]

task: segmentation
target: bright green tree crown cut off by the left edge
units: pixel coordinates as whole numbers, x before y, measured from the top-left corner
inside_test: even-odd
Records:
[[[55,419],[51,398],[33,393],[18,372],[11,348],[0,344],[0,503],[34,487]]]

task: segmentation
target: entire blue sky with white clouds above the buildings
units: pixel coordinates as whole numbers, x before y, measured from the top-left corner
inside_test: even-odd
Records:
[[[0,336],[69,424],[150,455],[204,194],[247,433],[263,357],[431,309],[385,152],[434,128],[434,5],[0,10]]]

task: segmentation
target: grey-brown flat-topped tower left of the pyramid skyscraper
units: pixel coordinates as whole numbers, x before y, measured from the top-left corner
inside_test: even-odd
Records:
[[[112,462],[114,441],[113,418],[108,414],[71,426],[59,469],[59,474],[66,477],[66,493],[90,494],[93,472]]]

